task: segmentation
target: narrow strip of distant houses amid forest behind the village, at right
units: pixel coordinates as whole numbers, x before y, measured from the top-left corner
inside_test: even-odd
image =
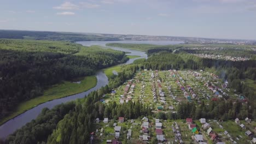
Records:
[[[232,56],[223,56],[223,55],[208,55],[204,53],[200,54],[193,54],[194,56],[197,57],[202,57],[202,58],[211,58],[211,59],[224,59],[228,61],[248,61],[249,58],[247,57],[232,57]]]

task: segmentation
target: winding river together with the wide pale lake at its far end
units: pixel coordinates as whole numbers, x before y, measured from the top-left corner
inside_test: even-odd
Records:
[[[103,47],[106,47],[107,43],[167,45],[167,44],[179,44],[179,43],[183,43],[183,41],[79,41],[77,43],[82,44],[84,46],[101,45]],[[142,51],[123,49],[120,47],[106,47],[106,48],[130,52],[130,53],[127,53],[126,55],[141,56],[139,58],[147,58],[147,54]],[[133,63],[133,61],[135,61],[136,59],[139,59],[139,58],[132,58],[129,61],[127,61],[125,64]],[[108,84],[108,78],[103,73],[102,70],[97,71],[96,77],[97,77],[97,85],[94,88],[91,88],[86,92],[70,95],[65,98],[47,101],[46,103],[37,105],[37,106],[33,107],[33,109],[30,109],[30,110],[22,113],[21,115],[16,116],[16,117],[10,119],[9,121],[5,122],[4,124],[2,124],[0,126],[0,138],[5,139],[8,135],[14,133],[14,131],[16,129],[19,129],[26,123],[31,122],[32,119],[35,119],[39,115],[39,113],[42,111],[42,109],[44,107],[48,107],[49,109],[52,109],[55,105],[59,105],[61,103],[66,103],[67,101],[75,100],[78,98],[84,98],[85,95],[88,95],[90,92],[96,91],[97,89],[101,88],[102,86],[106,86]]]

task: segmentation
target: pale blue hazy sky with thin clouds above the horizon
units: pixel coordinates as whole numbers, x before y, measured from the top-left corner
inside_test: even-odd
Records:
[[[0,0],[0,29],[256,39],[256,0]]]

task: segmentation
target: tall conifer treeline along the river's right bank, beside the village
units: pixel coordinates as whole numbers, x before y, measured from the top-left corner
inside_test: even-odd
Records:
[[[8,137],[5,143],[87,143],[90,139],[90,132],[95,130],[93,122],[97,117],[101,119],[105,116],[117,118],[119,116],[132,115],[131,117],[134,117],[133,112],[138,112],[135,109],[139,110],[135,116],[150,115],[149,107],[144,107],[141,103],[126,104],[125,108],[130,109],[126,114],[119,110],[121,105],[112,103],[112,105],[106,106],[100,102],[103,94],[109,93],[111,89],[123,84],[127,79],[131,79],[137,69],[137,65],[127,66],[123,73],[119,73],[109,80],[109,83],[112,83],[111,86],[107,85],[91,92],[84,99],[76,101],[75,105],[74,102],[71,102],[58,105],[56,107],[59,108],[55,107],[52,110],[44,109],[35,121],[27,123],[21,129],[16,130],[14,134]],[[131,73],[125,73],[125,71],[131,71]],[[62,106],[68,107],[68,109],[64,109]],[[111,110],[111,116],[108,116],[108,110]],[[63,115],[59,112],[63,113]],[[48,116],[47,113],[50,113],[50,115]],[[67,114],[65,117],[55,119],[55,117],[64,116],[65,114]],[[51,127],[40,127],[39,125],[51,125]],[[40,128],[39,131],[35,131],[34,129],[36,128]],[[27,131],[30,132],[28,133]],[[34,137],[38,136],[40,136],[39,139],[34,139]]]

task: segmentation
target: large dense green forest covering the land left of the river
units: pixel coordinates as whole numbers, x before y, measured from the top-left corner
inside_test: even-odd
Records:
[[[43,94],[63,80],[95,74],[127,61],[124,52],[79,44],[35,40],[0,40],[0,118],[21,101]]]

